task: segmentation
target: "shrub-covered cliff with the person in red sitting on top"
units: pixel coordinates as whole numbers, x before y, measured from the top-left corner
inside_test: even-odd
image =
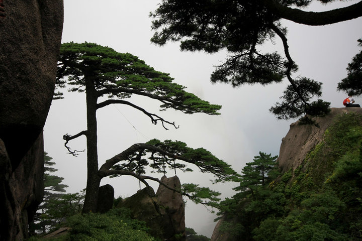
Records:
[[[362,108],[290,125],[279,177],[225,202],[211,241],[361,240]]]

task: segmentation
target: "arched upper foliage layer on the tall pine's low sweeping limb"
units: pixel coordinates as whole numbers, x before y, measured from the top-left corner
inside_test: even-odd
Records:
[[[146,157],[146,155],[148,156]],[[177,163],[180,161],[195,165],[203,173],[213,174],[216,177],[215,182],[235,180],[238,177],[231,165],[218,159],[204,148],[193,149],[184,142],[171,140],[161,142],[157,139],[152,139],[147,143],[134,144],[107,160],[100,168],[99,175],[118,176],[136,171],[144,174],[144,168],[148,165],[160,173],[166,173],[167,169],[178,169],[183,172],[193,171],[186,168],[186,164]]]

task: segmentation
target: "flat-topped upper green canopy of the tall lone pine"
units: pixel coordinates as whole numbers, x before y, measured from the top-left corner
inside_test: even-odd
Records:
[[[64,77],[67,79],[64,80]],[[112,103],[123,103],[132,95],[146,96],[161,102],[161,110],[173,108],[185,113],[203,112],[219,114],[220,105],[210,104],[195,94],[186,92],[185,86],[172,82],[167,73],[154,70],[129,53],[118,53],[112,48],[94,43],[64,43],[58,60],[57,85],[74,85],[70,91],[82,92],[85,79],[91,79],[98,97],[109,99],[97,108]]]

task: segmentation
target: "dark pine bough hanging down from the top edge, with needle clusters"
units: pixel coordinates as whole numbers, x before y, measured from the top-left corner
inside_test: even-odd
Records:
[[[282,102],[270,108],[277,118],[323,116],[329,112],[329,102],[312,101],[320,97],[321,82],[306,77],[293,77],[298,70],[290,55],[287,29],[282,20],[299,24],[323,26],[348,21],[362,16],[362,1],[346,8],[326,12],[307,12],[310,0],[237,0],[237,1],[175,1],[165,0],[151,13],[155,32],[151,41],[164,45],[180,41],[180,48],[188,51],[215,53],[229,52],[225,63],[211,75],[212,82],[226,82],[233,86],[281,82],[287,78],[290,85],[281,97]],[[334,0],[318,0],[332,3]],[[303,9],[297,9],[297,8]],[[182,10],[182,11],[180,11]],[[258,48],[266,41],[279,38],[284,55],[262,53]]]

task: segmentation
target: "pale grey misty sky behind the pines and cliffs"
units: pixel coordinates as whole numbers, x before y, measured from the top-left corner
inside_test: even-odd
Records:
[[[160,0],[64,0],[64,28],[62,43],[93,42],[108,46],[118,52],[128,52],[144,60],[155,70],[170,73],[174,82],[187,86],[202,99],[221,104],[221,115],[184,114],[167,110],[158,112],[159,103],[137,98],[134,101],[180,126],[164,130],[161,125],[151,124],[148,116],[129,106],[111,105],[98,110],[99,163],[122,152],[134,143],[157,138],[183,141],[193,148],[204,147],[215,156],[232,165],[240,172],[245,163],[251,162],[259,151],[279,155],[282,138],[286,136],[292,121],[278,121],[268,109],[279,101],[287,81],[280,84],[242,86],[232,88],[226,84],[211,84],[210,74],[215,65],[226,58],[226,53],[180,52],[177,43],[164,47],[152,44],[153,35],[149,12],[157,8]],[[356,1],[350,1],[355,3]],[[332,6],[348,3],[337,2]],[[314,11],[327,6],[313,6]],[[347,63],[360,50],[357,39],[362,37],[362,19],[324,27],[310,27],[283,21],[288,26],[287,36],[291,57],[299,65],[295,75],[305,76],[323,83],[322,98],[332,107],[343,107],[345,93],[337,92],[340,79],[346,76]],[[269,43],[262,48],[274,52],[282,50],[280,43]],[[283,54],[283,53],[281,53]],[[65,99],[53,101],[44,127],[45,151],[56,162],[56,175],[64,177],[68,193],[78,192],[86,185],[86,153],[72,157],[64,148],[62,136],[75,135],[86,129],[85,94],[65,92]],[[361,98],[356,98],[362,103]],[[85,138],[70,142],[72,149],[83,150]],[[149,174],[149,173],[148,173]],[[161,178],[161,174],[153,174]],[[167,176],[172,176],[173,171]],[[222,197],[231,196],[237,184],[211,186],[212,176],[195,172],[177,176],[182,183],[194,182],[210,186],[222,192]],[[116,197],[128,197],[139,188],[136,179],[120,177],[105,178],[102,185],[110,183]],[[152,185],[155,191],[158,185]],[[143,188],[143,186],[142,186]],[[215,226],[215,214],[202,205],[186,204],[186,226],[199,234],[211,236]]]

